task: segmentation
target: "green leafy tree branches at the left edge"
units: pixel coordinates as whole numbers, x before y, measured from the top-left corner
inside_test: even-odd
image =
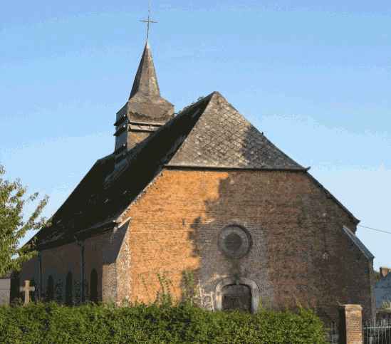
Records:
[[[0,164],[0,177],[5,172],[4,166]],[[8,270],[21,271],[21,263],[29,261],[38,254],[38,251],[30,252],[31,244],[16,249],[19,239],[26,235],[26,231],[51,225],[51,219],[46,221],[45,217],[36,221],[43,207],[48,203],[48,196],[45,196],[38,204],[36,211],[26,223],[22,221],[21,212],[26,202],[22,197],[27,189],[21,186],[19,178],[12,183],[0,178],[0,276]],[[27,200],[33,201],[36,197],[38,197],[38,192],[34,192]],[[33,247],[35,247],[36,239],[35,237],[32,241]],[[19,257],[12,259],[15,254],[19,254]]]

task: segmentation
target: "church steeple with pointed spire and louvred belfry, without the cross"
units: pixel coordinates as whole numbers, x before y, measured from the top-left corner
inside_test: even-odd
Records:
[[[115,167],[122,165],[127,151],[173,117],[174,105],[160,96],[150,41],[147,39],[129,100],[118,111],[114,123]]]

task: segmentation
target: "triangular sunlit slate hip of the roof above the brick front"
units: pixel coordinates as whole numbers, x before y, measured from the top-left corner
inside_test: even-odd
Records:
[[[219,92],[212,93],[204,113],[168,165],[305,170],[256,130]]]

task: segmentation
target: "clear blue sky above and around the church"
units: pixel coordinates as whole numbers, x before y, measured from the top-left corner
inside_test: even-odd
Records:
[[[391,3],[150,3],[162,97],[182,110],[218,90],[361,220],[391,268]],[[1,6],[0,162],[51,198],[50,217],[114,149],[145,46],[147,2]],[[26,207],[31,214],[36,203]],[[390,233],[385,233],[387,231]],[[19,246],[36,234],[29,231]]]

